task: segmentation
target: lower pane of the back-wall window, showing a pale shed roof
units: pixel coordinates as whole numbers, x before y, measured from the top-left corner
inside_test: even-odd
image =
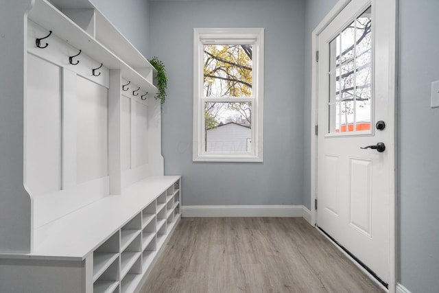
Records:
[[[250,152],[251,102],[204,103],[205,152]]]

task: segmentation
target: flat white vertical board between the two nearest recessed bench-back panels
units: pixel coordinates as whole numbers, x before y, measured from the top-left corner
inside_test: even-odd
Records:
[[[62,185],[69,189],[77,184],[78,160],[76,73],[62,68]]]

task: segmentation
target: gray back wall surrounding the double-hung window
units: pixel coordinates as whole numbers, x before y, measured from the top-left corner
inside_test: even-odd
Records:
[[[194,27],[265,27],[263,163],[192,162]],[[165,174],[182,175],[183,205],[302,204],[304,30],[302,0],[150,2],[150,54],[169,75]]]

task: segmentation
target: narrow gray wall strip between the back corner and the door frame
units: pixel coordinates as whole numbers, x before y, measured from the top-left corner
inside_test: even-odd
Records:
[[[337,0],[305,1],[305,99],[303,124],[303,204],[311,209],[311,33],[334,7]]]

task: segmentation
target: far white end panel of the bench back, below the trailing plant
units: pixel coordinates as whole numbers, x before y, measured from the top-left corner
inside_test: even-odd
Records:
[[[150,176],[163,176],[165,167],[162,156],[162,105],[160,99],[148,99],[148,162]]]

